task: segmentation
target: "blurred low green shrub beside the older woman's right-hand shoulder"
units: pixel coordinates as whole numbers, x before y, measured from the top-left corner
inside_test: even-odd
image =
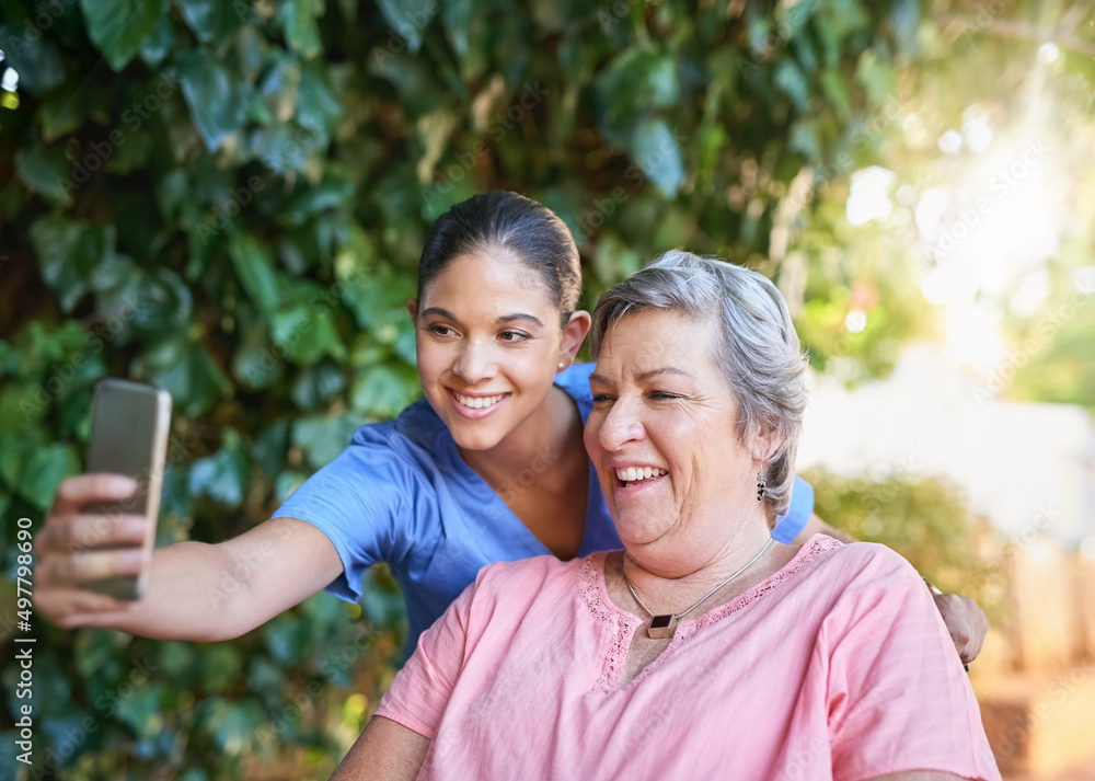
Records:
[[[942,590],[973,598],[991,622],[1004,618],[1003,540],[958,486],[900,472],[848,478],[818,468],[802,476],[814,485],[814,512],[834,528],[897,551]]]

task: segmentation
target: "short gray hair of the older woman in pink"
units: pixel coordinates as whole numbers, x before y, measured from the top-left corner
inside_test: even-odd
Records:
[[[596,358],[625,314],[666,309],[716,324],[715,360],[741,411],[742,441],[764,429],[780,447],[765,463],[769,525],[787,512],[806,410],[806,359],[787,305],[768,278],[725,261],[667,252],[597,301],[590,331]]]

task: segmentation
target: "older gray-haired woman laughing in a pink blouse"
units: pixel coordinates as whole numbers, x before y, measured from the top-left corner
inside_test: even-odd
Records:
[[[999,779],[930,592],[774,542],[806,404],[764,277],[682,252],[601,297],[585,430],[624,550],[485,566],[336,779]]]

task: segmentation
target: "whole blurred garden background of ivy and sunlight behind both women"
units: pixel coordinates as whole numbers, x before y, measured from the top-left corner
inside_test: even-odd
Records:
[[[26,768],[16,521],[105,376],[174,400],[161,544],[264,521],[417,398],[425,231],[507,188],[587,307],[671,248],[779,284],[818,513],[982,604],[1007,778],[1095,778],[1087,0],[0,0],[0,777],[326,778],[402,658],[383,567],[232,642],[34,618]]]

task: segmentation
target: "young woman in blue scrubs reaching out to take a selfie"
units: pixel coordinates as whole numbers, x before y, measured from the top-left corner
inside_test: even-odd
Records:
[[[581,440],[591,365],[572,366],[590,323],[576,311],[580,287],[574,240],[544,206],[512,193],[454,206],[427,239],[407,306],[424,400],[361,426],[270,520],[218,544],[158,549],[135,602],[83,587],[149,564],[139,549],[87,549],[142,538],[139,517],[84,510],[125,498],[132,481],[64,481],[36,540],[36,606],[61,627],[226,640],[322,588],[356,599],[365,570],[387,561],[407,601],[410,655],[483,565],[620,548]],[[773,536],[817,530],[816,518],[804,529],[811,509],[799,481]],[[970,634],[972,613],[957,605],[957,632]]]

